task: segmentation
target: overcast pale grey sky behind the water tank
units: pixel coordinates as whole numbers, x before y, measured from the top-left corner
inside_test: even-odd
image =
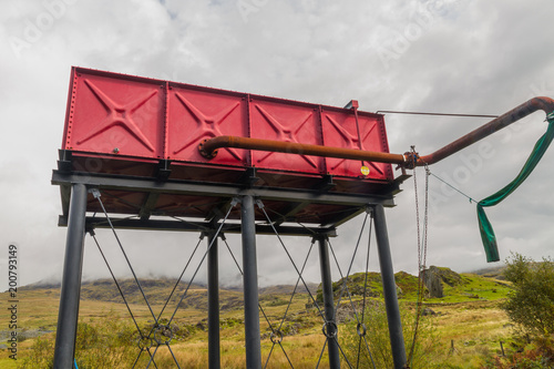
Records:
[[[370,112],[501,114],[535,95],[554,98],[553,10],[552,0],[1,1],[0,289],[7,285],[10,243],[18,245],[21,285],[61,276],[65,228],[57,226],[61,203],[50,178],[71,65],[334,106],[356,99]],[[386,115],[393,153],[416,145],[428,154],[486,121]],[[431,172],[479,201],[519,173],[545,127],[537,112]],[[552,255],[553,158],[551,148],[511,197],[488,209],[501,259],[511,252]],[[422,170],[418,177],[422,204]],[[386,214],[394,270],[414,273],[413,181],[402,188]],[[434,177],[429,195],[428,265],[458,271],[488,266],[475,205]],[[343,273],[361,221],[342,226],[331,240]],[[143,277],[177,276],[198,239],[121,236]],[[99,232],[99,239],[117,275],[129,275],[111,235]],[[285,242],[301,263],[310,240]],[[229,237],[229,244],[239,258],[238,239]],[[277,240],[260,237],[258,246],[260,285],[294,283]],[[226,283],[240,280],[230,260],[222,252]],[[355,270],[363,265],[359,256]],[[319,281],[317,253],[307,268],[307,279]],[[378,269],[375,248],[371,268]],[[89,237],[84,276],[109,276]],[[198,278],[205,279],[204,270]]]

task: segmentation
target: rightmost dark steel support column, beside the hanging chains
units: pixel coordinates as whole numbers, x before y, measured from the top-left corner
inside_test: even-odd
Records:
[[[387,319],[389,321],[390,345],[392,348],[392,360],[394,369],[402,369],[406,366],[404,338],[402,336],[402,322],[400,320],[400,309],[398,307],[397,284],[392,269],[392,258],[390,255],[389,236],[387,234],[387,222],[381,204],[373,207],[373,222],[376,225],[377,248],[379,252],[379,264],[381,266],[382,288],[384,295],[384,307],[387,308]]]

